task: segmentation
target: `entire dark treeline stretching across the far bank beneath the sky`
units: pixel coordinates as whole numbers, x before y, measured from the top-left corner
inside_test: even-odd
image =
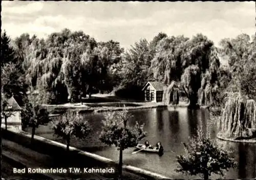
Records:
[[[68,29],[46,39],[22,34],[11,40],[6,32],[1,38],[2,93],[14,95],[20,105],[30,86],[44,94],[44,103],[62,104],[94,92],[144,98],[147,81],[177,83],[191,107],[222,102],[226,91],[256,98],[255,37],[246,34],[216,47],[202,34],[189,39],[159,33],[126,51],[119,42],[97,42]]]

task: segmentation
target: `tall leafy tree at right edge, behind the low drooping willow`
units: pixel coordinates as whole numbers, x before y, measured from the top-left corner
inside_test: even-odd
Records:
[[[256,41],[255,37],[241,34],[233,39],[223,39],[221,56],[228,59],[231,80],[228,91],[241,92],[256,98]]]

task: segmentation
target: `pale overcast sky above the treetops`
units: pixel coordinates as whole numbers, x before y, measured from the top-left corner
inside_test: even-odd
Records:
[[[130,47],[159,32],[187,37],[203,33],[220,39],[255,34],[254,2],[2,2],[2,30],[47,37],[68,28],[97,41],[116,40]]]

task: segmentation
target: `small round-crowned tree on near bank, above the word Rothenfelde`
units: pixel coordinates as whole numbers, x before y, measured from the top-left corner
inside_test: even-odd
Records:
[[[67,141],[67,151],[69,151],[71,137],[85,139],[91,132],[88,121],[83,120],[78,112],[71,110],[53,121],[53,130],[57,136]]]

